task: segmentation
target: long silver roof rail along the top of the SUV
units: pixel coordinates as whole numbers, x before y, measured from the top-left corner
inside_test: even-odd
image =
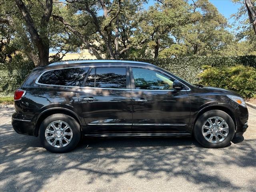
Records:
[[[107,63],[107,62],[115,62],[115,63],[140,63],[140,64],[150,64],[146,62],[140,62],[140,61],[126,61],[126,60],[75,60],[75,61],[60,61],[60,62],[54,62],[49,64],[48,66],[53,65],[62,65],[62,64],[76,64],[76,63]],[[152,65],[152,64],[150,64]]]

